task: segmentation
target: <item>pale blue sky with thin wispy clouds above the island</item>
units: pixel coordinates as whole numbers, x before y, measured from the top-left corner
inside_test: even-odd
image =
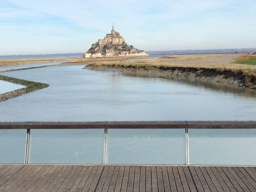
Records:
[[[112,22],[138,49],[256,47],[253,0],[0,0],[0,55],[86,52]]]

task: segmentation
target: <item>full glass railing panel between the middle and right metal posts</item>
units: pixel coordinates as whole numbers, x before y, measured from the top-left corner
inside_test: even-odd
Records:
[[[186,164],[185,129],[108,129],[107,164]]]

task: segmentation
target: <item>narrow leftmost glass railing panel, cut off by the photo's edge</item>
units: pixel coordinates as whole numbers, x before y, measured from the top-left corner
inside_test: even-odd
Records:
[[[0,129],[0,164],[24,164],[26,129]]]

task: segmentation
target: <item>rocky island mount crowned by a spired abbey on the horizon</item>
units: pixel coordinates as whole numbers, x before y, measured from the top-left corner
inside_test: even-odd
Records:
[[[114,25],[111,33],[104,39],[93,43],[83,57],[124,57],[124,56],[146,56],[144,50],[138,50],[133,45],[127,45],[125,39],[119,32],[115,31]]]

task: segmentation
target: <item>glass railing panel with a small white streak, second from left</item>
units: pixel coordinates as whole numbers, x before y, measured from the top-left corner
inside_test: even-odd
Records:
[[[104,129],[41,129],[30,132],[29,164],[103,164]]]

